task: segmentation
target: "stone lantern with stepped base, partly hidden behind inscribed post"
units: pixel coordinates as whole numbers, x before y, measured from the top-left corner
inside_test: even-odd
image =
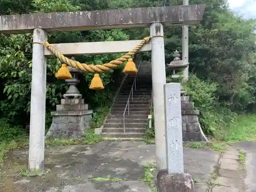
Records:
[[[167,64],[168,68],[173,70],[172,78],[181,77],[177,74],[177,70],[184,69],[188,63],[184,63],[180,59],[178,51],[174,52],[174,60]],[[201,125],[199,123],[199,110],[194,109],[194,103],[186,96],[181,86],[181,115],[182,115],[182,137],[183,141],[208,141],[205,137]]]

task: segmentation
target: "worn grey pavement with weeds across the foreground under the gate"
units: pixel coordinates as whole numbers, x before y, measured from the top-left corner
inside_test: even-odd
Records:
[[[197,192],[255,192],[255,158],[256,142],[233,144],[224,153],[184,147],[185,171],[193,176]],[[25,177],[27,163],[26,149],[8,154],[0,170],[0,191],[154,191],[142,179],[144,165],[156,164],[155,145],[142,141],[47,147],[42,176]]]

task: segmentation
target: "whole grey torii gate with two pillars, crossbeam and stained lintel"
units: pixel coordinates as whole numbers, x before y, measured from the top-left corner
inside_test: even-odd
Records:
[[[193,25],[203,18],[204,5],[112,9],[62,13],[0,16],[0,33],[32,33],[33,42],[47,41],[51,31],[87,31],[150,27],[151,44],[141,51],[152,53],[156,157],[158,168],[166,168],[163,85],[166,83],[163,26]],[[139,40],[140,41],[140,40]],[[79,42],[52,45],[64,55],[124,53],[138,40]],[[46,56],[44,45],[33,44],[29,168],[44,169],[46,113]]]

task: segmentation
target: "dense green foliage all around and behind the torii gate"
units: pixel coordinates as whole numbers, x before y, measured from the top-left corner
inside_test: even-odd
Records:
[[[191,78],[185,88],[195,105],[201,110],[201,123],[206,133],[219,133],[232,122],[234,111],[252,110],[255,103],[255,20],[245,20],[234,15],[225,0],[191,0],[190,4],[206,4],[203,21],[189,27],[189,62]],[[182,1],[152,0],[0,0],[0,14],[99,10],[112,8],[181,5]],[[96,30],[77,32],[52,32],[51,43],[104,40],[140,39],[148,29]],[[165,34],[166,63],[173,59],[175,50],[181,51],[181,27],[167,27]],[[31,34],[0,34],[0,115],[12,125],[25,127],[29,123],[31,81]],[[72,55],[71,55],[72,56]],[[117,54],[76,56],[81,62],[104,63]],[[143,54],[150,59],[150,54]],[[50,112],[67,85],[57,80],[54,73],[59,68],[56,58],[47,61],[47,122]],[[88,84],[92,74],[80,77],[79,90],[91,109],[110,103],[113,81],[118,81],[120,70],[104,73],[104,91],[92,91]],[[232,112],[231,112],[232,111]],[[224,115],[223,115],[224,114]],[[6,120],[5,120],[6,122]],[[2,126],[2,125],[1,125]],[[0,127],[2,132],[2,127]]]

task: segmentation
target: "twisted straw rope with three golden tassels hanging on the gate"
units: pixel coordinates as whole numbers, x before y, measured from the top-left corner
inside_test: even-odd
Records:
[[[122,63],[127,61],[123,72],[124,73],[137,73],[137,69],[135,66],[135,63],[133,62],[132,58],[133,56],[145,45],[152,37],[145,37],[139,45],[137,45],[133,50],[129,51],[125,55],[110,61],[109,63],[104,63],[103,65],[93,65],[93,64],[86,64],[86,63],[80,63],[76,60],[69,59],[68,57],[65,57],[63,54],[61,54],[59,51],[54,49],[49,42],[33,42],[38,44],[43,44],[49,49],[60,61],[62,61],[65,64],[61,65],[61,68],[59,71],[55,74],[55,76],[59,79],[70,79],[72,78],[69,69],[67,68],[67,65],[69,65],[72,68],[77,68],[84,72],[90,72],[90,73],[96,73],[94,75],[94,78],[92,79],[90,89],[93,90],[100,90],[104,89],[104,86],[101,82],[101,79],[99,77],[99,74],[106,71],[110,71],[111,69],[119,67]]]

